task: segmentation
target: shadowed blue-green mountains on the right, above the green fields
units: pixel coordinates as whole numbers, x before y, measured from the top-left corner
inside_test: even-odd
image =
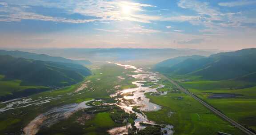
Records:
[[[195,75],[208,80],[256,81],[256,48],[201,58],[200,56],[178,57],[156,64],[155,70],[170,76]]]

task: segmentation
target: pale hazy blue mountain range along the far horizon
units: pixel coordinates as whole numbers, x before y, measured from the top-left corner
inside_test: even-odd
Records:
[[[51,56],[62,56],[65,58],[79,60],[88,58],[88,60],[92,61],[148,60],[155,62],[174,58],[177,56],[210,56],[216,53],[215,51],[172,48],[45,48],[23,49],[22,51],[43,53]]]

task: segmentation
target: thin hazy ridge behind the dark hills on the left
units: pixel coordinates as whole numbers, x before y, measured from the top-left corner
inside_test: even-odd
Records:
[[[4,55],[9,55],[16,58],[25,58],[25,59],[41,60],[41,61],[63,62],[63,63],[72,63],[72,64],[92,64],[88,60],[70,60],[63,57],[54,57],[54,56],[49,56],[45,54],[0,50],[0,56],[4,56]]]

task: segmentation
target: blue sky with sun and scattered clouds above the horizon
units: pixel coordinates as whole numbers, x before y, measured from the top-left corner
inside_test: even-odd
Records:
[[[0,0],[0,48],[256,48],[256,0]]]

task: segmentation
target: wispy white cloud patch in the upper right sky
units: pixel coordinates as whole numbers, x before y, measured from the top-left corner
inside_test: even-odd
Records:
[[[255,0],[243,0],[229,3],[219,3],[220,5],[234,6],[239,4],[252,4]],[[193,25],[201,25],[206,29],[221,31],[225,28],[244,28],[242,24],[255,23],[255,17],[246,16],[245,12],[221,12],[218,8],[210,6],[207,2],[199,0],[180,0],[177,5],[180,8],[193,10],[197,13],[195,16],[171,16],[164,18],[166,21],[187,21]],[[248,14],[248,13],[247,13]],[[239,16],[239,17],[238,17]],[[246,19],[245,19],[246,18]],[[202,30],[200,30],[203,32]],[[219,33],[214,33],[219,34]]]

